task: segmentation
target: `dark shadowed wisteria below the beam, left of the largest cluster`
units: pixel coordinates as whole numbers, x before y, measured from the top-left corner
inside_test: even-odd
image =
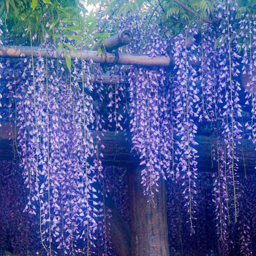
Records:
[[[1,161],[0,253],[6,255],[13,248],[17,255],[35,255],[43,252],[37,238],[38,222],[34,216],[22,212],[27,190],[17,161]],[[23,196],[24,195],[24,196]]]

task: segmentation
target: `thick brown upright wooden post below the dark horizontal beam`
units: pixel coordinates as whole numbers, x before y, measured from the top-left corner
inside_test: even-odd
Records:
[[[154,201],[143,195],[140,169],[130,175],[131,256],[169,256],[165,181],[159,180]]]

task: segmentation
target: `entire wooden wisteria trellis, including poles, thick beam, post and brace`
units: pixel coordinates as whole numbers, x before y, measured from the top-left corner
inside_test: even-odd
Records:
[[[125,39],[124,39],[124,38]],[[123,40],[124,39],[124,40]],[[112,51],[122,45],[128,44],[131,40],[129,31],[124,30],[121,34],[111,36],[105,41],[107,51]],[[96,46],[95,49],[97,49]],[[50,49],[49,49],[50,50]],[[45,49],[33,47],[32,54],[34,57],[45,56]],[[71,58],[77,56],[70,52]],[[30,57],[31,48],[27,46],[0,46],[1,57]],[[51,58],[49,54],[47,56]],[[58,53],[58,58],[65,58],[64,55]],[[79,56],[81,57],[81,56]],[[107,58],[106,58],[107,57]],[[100,55],[97,51],[84,50],[82,52],[84,60],[92,60],[95,63],[117,63],[116,55],[106,52]],[[147,55],[119,53],[117,64],[121,65],[139,65],[139,66],[162,66],[170,67],[172,65],[171,56],[157,56],[150,58]],[[94,75],[91,75],[94,81]],[[111,78],[108,74],[102,75],[102,81],[105,84],[116,83],[115,78]],[[246,75],[242,75],[241,81],[246,87]],[[9,139],[12,139],[13,124],[1,123],[0,127],[0,159],[12,159],[13,152]],[[92,131],[93,137],[96,138],[99,132]],[[169,255],[168,249],[168,230],[166,218],[166,191],[165,182],[161,181],[159,192],[155,195],[156,206],[152,202],[147,203],[147,199],[143,196],[141,188],[141,175],[139,167],[139,159],[137,155],[131,153],[131,145],[125,139],[123,132],[115,135],[114,132],[107,131],[101,138],[105,148],[102,150],[104,158],[101,159],[104,166],[126,166],[129,170],[129,187],[130,187],[130,209],[131,209],[131,228],[129,229],[122,219],[121,215],[115,208],[111,199],[106,198],[106,205],[111,209],[112,218],[110,219],[111,229],[110,237],[112,243],[120,256],[165,256]],[[203,171],[211,171],[211,145],[216,138],[206,135],[196,136],[200,146],[196,147],[198,154],[201,156],[198,160],[198,168]],[[95,140],[96,141],[96,140]],[[244,140],[247,145],[245,152],[245,162],[248,171],[254,169],[254,146]],[[238,145],[238,150],[241,145]],[[242,163],[239,166],[243,170]]]

